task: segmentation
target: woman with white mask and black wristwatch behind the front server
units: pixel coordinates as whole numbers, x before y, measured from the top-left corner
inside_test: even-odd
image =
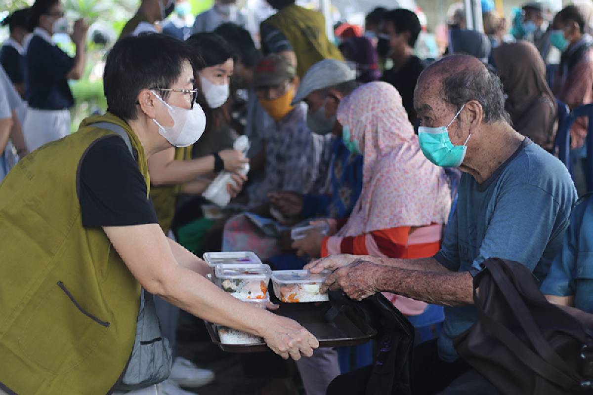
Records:
[[[216,36],[210,33],[211,36]],[[211,37],[212,38],[212,37]],[[175,203],[177,196],[183,192],[189,195],[199,195],[208,188],[213,179],[213,175],[222,170],[237,172],[242,169],[248,159],[244,158],[241,152],[232,147],[234,139],[228,139],[226,136],[220,136],[216,124],[224,121],[225,115],[222,105],[228,98],[228,84],[234,67],[234,53],[232,53],[229,44],[221,37],[215,38],[217,45],[211,51],[197,52],[205,65],[196,73],[195,86],[201,86],[201,89],[167,91],[167,89],[156,88],[160,94],[180,95],[187,101],[193,103],[200,102],[206,113],[206,133],[200,137],[197,145],[203,146],[202,140],[212,140],[206,143],[210,146],[208,153],[197,155],[198,158],[192,159],[192,146],[171,147],[160,153],[157,153],[148,160],[148,170],[151,176],[153,188],[151,189],[152,201],[162,230],[167,233],[173,222],[175,212]],[[212,40],[211,40],[212,41]],[[191,44],[191,39],[188,41]],[[192,45],[194,49],[195,46]],[[216,59],[216,60],[213,60]],[[218,60],[221,59],[221,60]],[[212,62],[217,62],[211,64]],[[225,143],[224,140],[229,140]],[[195,150],[195,147],[194,147]],[[204,151],[201,149],[201,151]],[[196,155],[194,155],[196,156]],[[234,184],[228,185],[228,190],[232,196],[240,192],[245,177],[240,173],[234,174]]]

